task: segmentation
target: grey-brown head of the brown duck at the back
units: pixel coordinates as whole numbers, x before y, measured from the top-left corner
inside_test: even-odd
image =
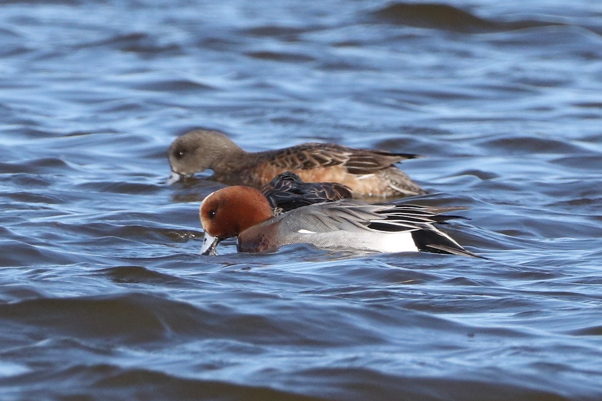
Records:
[[[244,153],[221,132],[198,129],[178,136],[169,147],[167,158],[172,178],[190,176],[207,169],[216,170],[222,162],[236,161]]]

